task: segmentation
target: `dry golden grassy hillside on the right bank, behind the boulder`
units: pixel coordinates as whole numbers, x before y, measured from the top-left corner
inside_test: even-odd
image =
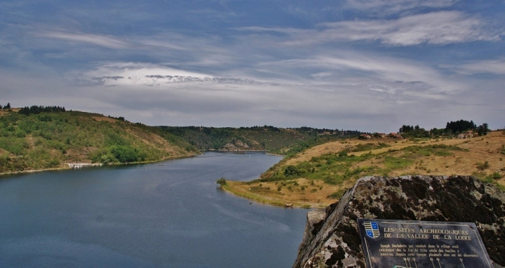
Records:
[[[225,189],[253,200],[326,207],[367,175],[473,175],[505,188],[505,133],[446,140],[342,140],[313,146],[252,182]]]

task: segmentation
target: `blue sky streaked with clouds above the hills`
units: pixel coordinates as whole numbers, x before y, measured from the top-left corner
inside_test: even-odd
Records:
[[[505,126],[504,0],[1,0],[0,105],[151,126]]]

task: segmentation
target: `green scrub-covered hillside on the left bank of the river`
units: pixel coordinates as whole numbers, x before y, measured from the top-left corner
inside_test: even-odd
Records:
[[[0,115],[0,173],[65,168],[66,163],[152,162],[198,153],[166,131],[77,111]]]

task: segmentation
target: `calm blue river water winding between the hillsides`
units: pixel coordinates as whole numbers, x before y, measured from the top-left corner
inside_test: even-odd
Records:
[[[0,267],[291,267],[308,210],[250,204],[215,184],[279,160],[205,153],[2,176]]]

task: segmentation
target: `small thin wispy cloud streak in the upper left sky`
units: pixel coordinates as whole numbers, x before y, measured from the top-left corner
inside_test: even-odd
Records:
[[[85,33],[73,33],[73,32],[39,32],[36,34],[37,37],[44,37],[50,39],[61,39],[77,43],[87,43],[94,44],[97,46],[103,46],[106,48],[129,48],[130,44],[117,38],[107,37],[104,35],[92,35]]]

